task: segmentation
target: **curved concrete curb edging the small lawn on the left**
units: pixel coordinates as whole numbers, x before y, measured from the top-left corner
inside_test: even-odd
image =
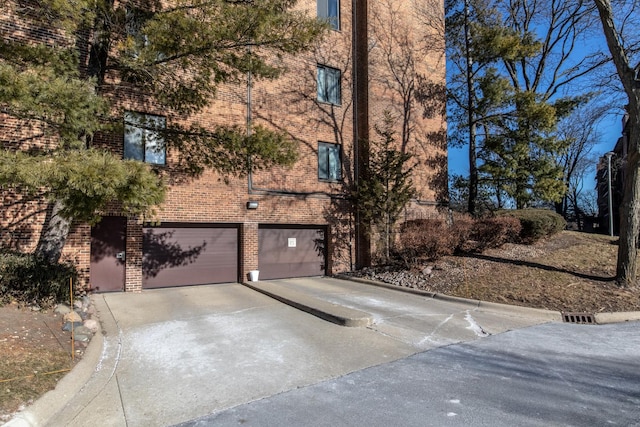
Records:
[[[18,412],[9,422],[3,424],[3,427],[35,427],[49,424],[89,381],[102,357],[103,344],[102,325],[98,322],[98,331],[91,338],[76,366],[58,381],[55,389],[46,392],[32,405]]]

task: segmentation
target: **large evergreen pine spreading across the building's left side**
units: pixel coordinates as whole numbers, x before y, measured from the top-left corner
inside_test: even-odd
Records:
[[[107,203],[126,214],[148,213],[165,194],[147,165],[94,144],[101,132],[122,134],[126,93],[165,112],[166,127],[148,127],[177,154],[176,170],[225,176],[292,164],[295,144],[256,128],[205,127],[197,113],[219,85],[247,73],[275,79],[281,55],[310,49],[326,23],[295,10],[296,0],[38,0],[0,9],[47,40],[3,34],[0,111],[16,123],[0,151],[0,187],[51,201],[38,252],[59,258],[72,220],[95,222]],[[5,30],[9,31],[9,29]],[[115,96],[114,96],[115,95]],[[171,119],[180,119],[172,121]],[[189,123],[185,125],[184,123]],[[27,148],[20,137],[39,134]]]

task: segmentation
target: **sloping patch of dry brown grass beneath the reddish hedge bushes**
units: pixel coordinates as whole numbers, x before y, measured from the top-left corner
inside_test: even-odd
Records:
[[[617,239],[564,231],[530,246],[444,257],[419,287],[563,312],[640,311],[640,287],[613,280],[616,257]]]

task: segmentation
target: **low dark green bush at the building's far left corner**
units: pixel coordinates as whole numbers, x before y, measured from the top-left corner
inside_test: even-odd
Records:
[[[0,305],[19,304],[51,307],[69,300],[69,279],[78,281],[71,264],[51,264],[33,254],[0,253]]]

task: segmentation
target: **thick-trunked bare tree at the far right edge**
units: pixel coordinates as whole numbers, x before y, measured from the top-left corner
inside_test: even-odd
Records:
[[[602,23],[607,46],[611,52],[618,77],[624,87],[629,104],[629,147],[624,196],[620,207],[620,241],[618,243],[618,263],[616,280],[620,286],[636,283],[638,272],[638,233],[640,232],[640,62],[632,66],[632,59],[638,60],[638,51],[629,43],[625,29],[630,25],[637,35],[638,9],[640,2],[626,2],[628,8],[618,5],[614,15],[610,0],[594,0]],[[623,11],[624,13],[621,13]],[[633,22],[635,19],[636,22]],[[637,48],[637,45],[635,45]],[[634,58],[635,54],[635,58]]]

